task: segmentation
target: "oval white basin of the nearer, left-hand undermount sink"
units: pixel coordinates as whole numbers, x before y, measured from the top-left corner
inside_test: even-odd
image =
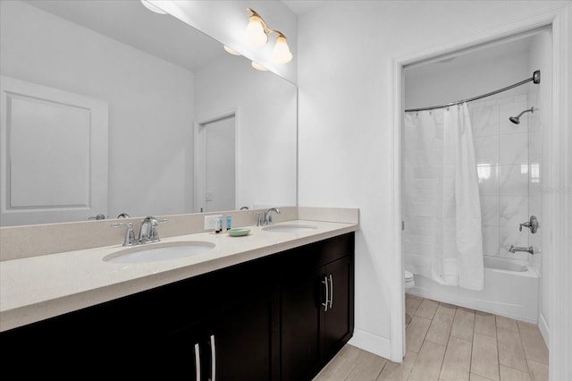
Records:
[[[113,263],[156,262],[197,255],[212,250],[214,246],[214,243],[203,241],[156,243],[115,251],[106,256],[104,260]]]

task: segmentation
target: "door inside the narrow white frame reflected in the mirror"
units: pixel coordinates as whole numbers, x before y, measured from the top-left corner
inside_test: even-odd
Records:
[[[201,124],[205,136],[203,211],[233,210],[235,206],[235,116]]]

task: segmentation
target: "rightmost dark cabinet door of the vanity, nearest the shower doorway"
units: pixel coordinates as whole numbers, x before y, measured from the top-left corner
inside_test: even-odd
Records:
[[[324,315],[323,353],[328,360],[353,334],[353,269],[351,257],[340,258],[324,267],[328,283],[328,309]]]

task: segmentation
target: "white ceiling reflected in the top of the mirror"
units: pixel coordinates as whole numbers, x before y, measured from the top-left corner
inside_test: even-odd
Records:
[[[49,13],[196,72],[223,46],[171,15],[134,0],[24,0]]]

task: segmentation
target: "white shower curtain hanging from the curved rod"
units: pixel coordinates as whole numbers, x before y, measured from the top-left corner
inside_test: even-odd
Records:
[[[467,104],[406,113],[403,248],[406,269],[483,290],[481,207]]]

